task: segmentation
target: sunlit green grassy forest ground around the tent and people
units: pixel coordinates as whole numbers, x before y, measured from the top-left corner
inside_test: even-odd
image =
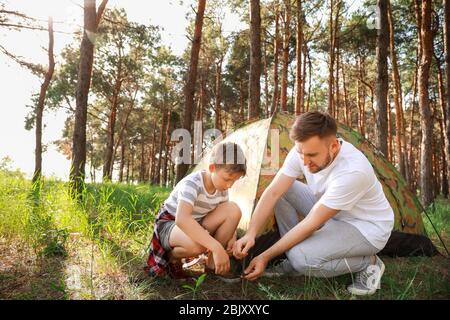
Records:
[[[450,259],[388,258],[382,290],[347,293],[351,276],[282,277],[224,284],[151,279],[143,272],[155,213],[170,190],[147,185],[92,184],[83,202],[68,186],[33,187],[0,171],[0,299],[449,299]],[[438,199],[430,216],[450,247],[450,202]],[[428,233],[443,251],[431,225]]]

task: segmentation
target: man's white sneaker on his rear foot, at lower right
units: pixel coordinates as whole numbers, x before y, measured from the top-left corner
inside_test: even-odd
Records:
[[[356,274],[353,284],[347,287],[351,294],[366,296],[374,294],[381,287],[381,277],[384,273],[384,263],[375,256],[375,264],[371,264],[365,270]]]

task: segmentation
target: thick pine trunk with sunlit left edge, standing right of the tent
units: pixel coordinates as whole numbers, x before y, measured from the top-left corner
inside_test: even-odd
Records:
[[[433,53],[431,35],[431,0],[423,0],[421,7],[421,55],[418,74],[419,110],[421,117],[421,154],[420,154],[420,189],[424,206],[433,201],[432,141],[433,127],[431,122],[430,99],[428,96],[430,65]]]

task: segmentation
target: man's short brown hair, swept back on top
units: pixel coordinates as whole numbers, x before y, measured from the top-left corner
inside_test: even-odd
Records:
[[[295,119],[289,136],[294,141],[304,142],[315,136],[322,139],[336,134],[337,124],[333,117],[325,112],[310,111]]]

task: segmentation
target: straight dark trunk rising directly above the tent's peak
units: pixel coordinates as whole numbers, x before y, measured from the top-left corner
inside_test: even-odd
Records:
[[[261,78],[261,9],[259,0],[250,0],[250,83],[248,119],[259,117]]]

